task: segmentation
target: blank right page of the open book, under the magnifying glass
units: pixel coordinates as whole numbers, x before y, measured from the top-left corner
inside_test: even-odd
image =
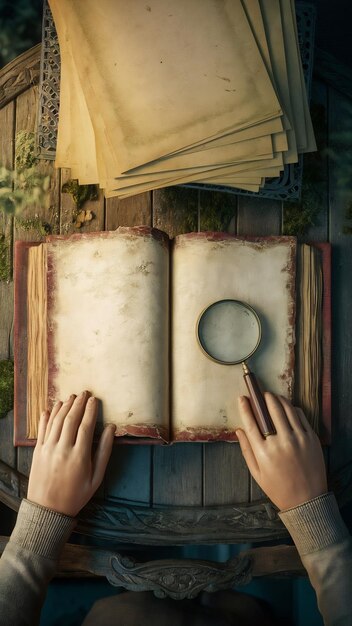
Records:
[[[171,415],[178,441],[236,440],[241,365],[201,350],[197,321],[211,303],[243,301],[257,312],[262,340],[249,366],[262,389],[292,397],[295,324],[294,237],[242,239],[228,233],[179,235],[172,249]]]

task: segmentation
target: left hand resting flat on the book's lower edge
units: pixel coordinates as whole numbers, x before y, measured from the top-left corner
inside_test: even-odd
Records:
[[[103,480],[115,427],[102,433],[94,458],[92,443],[98,402],[84,391],[55,403],[40,417],[29,476],[28,500],[75,517]]]

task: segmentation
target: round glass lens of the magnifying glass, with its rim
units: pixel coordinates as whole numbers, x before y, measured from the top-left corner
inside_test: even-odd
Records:
[[[255,312],[237,300],[220,300],[202,314],[198,337],[203,349],[222,363],[240,363],[257,348],[260,323]]]

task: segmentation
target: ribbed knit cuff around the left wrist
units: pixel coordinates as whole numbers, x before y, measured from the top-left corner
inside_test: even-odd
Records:
[[[57,560],[76,519],[23,499],[10,541],[34,554]]]

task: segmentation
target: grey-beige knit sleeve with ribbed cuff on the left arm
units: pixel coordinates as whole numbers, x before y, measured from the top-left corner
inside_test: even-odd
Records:
[[[0,559],[0,624],[35,626],[75,519],[22,500]]]

